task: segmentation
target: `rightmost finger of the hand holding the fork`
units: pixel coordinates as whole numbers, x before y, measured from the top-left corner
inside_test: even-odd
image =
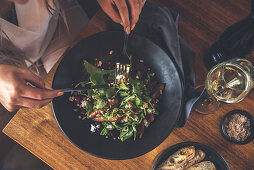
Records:
[[[128,3],[131,8],[131,30],[133,30],[136,23],[138,22],[141,4],[138,0],[128,0]]]

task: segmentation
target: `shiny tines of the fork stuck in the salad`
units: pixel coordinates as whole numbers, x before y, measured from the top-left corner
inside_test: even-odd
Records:
[[[115,68],[115,83],[120,84],[122,82],[129,81],[130,64],[116,63]]]

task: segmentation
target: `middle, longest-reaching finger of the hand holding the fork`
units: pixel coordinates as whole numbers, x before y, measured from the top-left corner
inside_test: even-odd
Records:
[[[117,9],[119,11],[121,20],[123,22],[124,30],[126,34],[130,34],[130,19],[129,19],[129,12],[128,7],[125,0],[116,0],[114,1]]]

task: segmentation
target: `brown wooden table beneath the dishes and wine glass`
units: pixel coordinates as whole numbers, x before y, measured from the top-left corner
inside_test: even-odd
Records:
[[[202,84],[207,70],[202,56],[225,28],[247,16],[250,0],[154,0],[180,13],[179,31],[196,52],[196,80]],[[107,17],[100,11],[90,21],[81,38],[104,31]],[[253,55],[251,55],[253,56]],[[248,57],[250,60],[251,57]],[[51,84],[57,65],[46,78]],[[254,142],[236,145],[219,131],[220,120],[228,111],[243,109],[254,115],[254,95],[238,104],[223,105],[212,115],[193,112],[184,128],[175,129],[151,152],[130,160],[106,160],[91,156],[74,146],[62,133],[53,117],[51,104],[42,109],[22,109],[3,132],[54,169],[152,169],[158,155],[179,142],[196,141],[217,150],[232,170],[254,169]]]

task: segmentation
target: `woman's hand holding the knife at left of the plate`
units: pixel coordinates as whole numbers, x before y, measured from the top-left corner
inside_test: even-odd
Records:
[[[10,112],[21,107],[41,108],[61,95],[59,90],[46,88],[44,81],[28,69],[0,65],[0,102]]]

